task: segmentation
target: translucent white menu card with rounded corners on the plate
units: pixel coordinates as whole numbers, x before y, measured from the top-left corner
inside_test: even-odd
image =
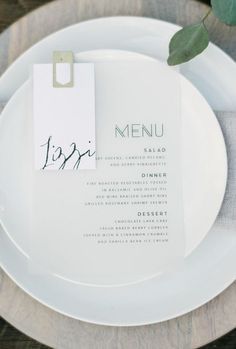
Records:
[[[32,272],[124,285],[184,258],[180,78],[117,61],[96,63],[95,79],[96,169],[33,169]]]

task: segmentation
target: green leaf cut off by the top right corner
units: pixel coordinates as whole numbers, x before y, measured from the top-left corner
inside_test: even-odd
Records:
[[[211,0],[214,15],[228,25],[236,25],[236,0]]]

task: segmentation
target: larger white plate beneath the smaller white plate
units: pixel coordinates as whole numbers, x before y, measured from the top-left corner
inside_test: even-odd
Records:
[[[21,84],[28,78],[28,68],[32,63],[50,62],[52,48],[61,50],[73,50],[74,52],[92,50],[97,48],[123,49],[145,53],[160,60],[165,60],[168,54],[168,41],[170,37],[179,29],[178,26],[149,18],[141,17],[111,17],[95,19],[82,22],[61,31],[58,31],[44,40],[40,41],[22,56],[0,78],[0,100],[6,101],[17,90]],[[216,110],[235,110],[236,109],[236,64],[222,50],[214,45],[209,45],[207,51],[194,61],[181,66],[183,75],[189,78],[206,97],[213,109]],[[16,280],[17,275],[21,274],[21,287],[30,289],[34,280],[28,280],[24,277],[25,258],[24,255],[10,243],[5,234],[0,234],[1,242],[5,244],[5,251],[1,252],[2,266],[8,274]],[[117,289],[112,299],[115,300],[119,295],[119,301],[116,308],[120,307],[120,314],[126,306],[128,299],[136,296],[136,303],[139,304],[134,311],[131,309],[129,319],[126,318],[126,312],[123,317],[117,318],[114,314],[113,324],[145,324],[156,321],[166,320],[174,316],[186,313],[223,291],[230,283],[235,280],[235,242],[234,232],[218,229],[217,232],[210,232],[201,245],[188,257],[188,264],[183,270],[173,275],[172,281],[166,280],[166,283],[152,283],[143,285],[137,290],[134,286],[130,287],[127,293],[124,289]],[[15,256],[11,259],[11,256]],[[17,259],[18,263],[15,263]],[[4,263],[7,261],[7,263]],[[51,281],[46,276],[48,287]],[[60,279],[54,282],[59,286]],[[164,280],[163,280],[164,281]],[[54,285],[55,285],[54,283]],[[174,287],[174,288],[173,288]],[[68,289],[67,296],[70,297],[72,290]],[[86,288],[77,293],[78,307],[81,305],[80,296],[88,294],[90,290]],[[144,292],[144,293],[143,293]],[[40,298],[43,293],[43,286],[40,287],[35,297]],[[143,307],[143,295],[146,302],[148,297],[153,299],[153,294],[157,297],[168,294],[170,303],[156,308],[155,303],[152,307]],[[171,298],[171,295],[173,297]],[[59,304],[61,295],[55,295],[55,304]],[[107,307],[112,304],[112,299],[106,304]],[[46,295],[45,304],[49,297]],[[106,300],[106,294],[98,291],[96,300]],[[165,302],[165,297],[162,298]],[[132,302],[131,302],[132,303]],[[104,316],[104,323],[107,321],[107,309],[99,303],[96,306],[97,313],[94,317],[94,309],[91,306],[94,302],[84,302],[81,306],[81,318],[93,319],[94,322],[100,322],[100,313]],[[86,310],[86,311],[85,311]],[[91,310],[91,311],[90,311]],[[70,313],[73,313],[73,305]]]

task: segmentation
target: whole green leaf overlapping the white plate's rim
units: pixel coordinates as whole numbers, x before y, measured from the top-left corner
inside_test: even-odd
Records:
[[[188,62],[204,51],[208,44],[209,35],[203,21],[185,27],[172,37],[167,62],[169,65]]]

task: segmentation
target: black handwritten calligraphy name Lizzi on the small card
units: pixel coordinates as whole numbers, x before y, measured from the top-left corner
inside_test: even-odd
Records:
[[[69,151],[65,153],[61,146],[53,144],[52,136],[49,136],[47,142],[42,144],[41,147],[45,148],[45,161],[42,170],[53,165],[57,166],[59,170],[64,170],[69,161],[72,164],[71,168],[78,170],[83,157],[92,157],[95,155],[95,151],[92,152],[90,149],[83,153],[80,152],[75,142],[70,144]]]

